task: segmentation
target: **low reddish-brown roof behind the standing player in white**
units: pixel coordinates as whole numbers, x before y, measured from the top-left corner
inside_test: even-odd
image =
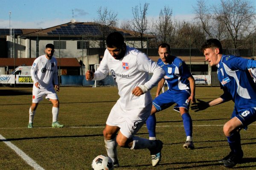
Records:
[[[58,66],[61,67],[80,67],[78,60],[76,58],[59,58],[57,59]],[[15,66],[19,65],[32,65],[35,58],[18,58],[15,59]],[[0,58],[0,67],[3,66],[14,66],[14,58]]]

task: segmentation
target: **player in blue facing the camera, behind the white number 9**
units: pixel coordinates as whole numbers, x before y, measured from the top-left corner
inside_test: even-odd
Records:
[[[170,55],[170,45],[158,45],[159,59],[157,64],[165,71],[164,78],[157,85],[156,98],[153,100],[151,115],[147,119],[149,139],[156,139],[155,113],[169,108],[173,104],[174,110],[180,112],[186,133],[186,142],[183,147],[194,149],[192,141],[192,119],[189,115],[189,103],[195,102],[195,79],[192,77],[186,63],[180,58]],[[164,83],[167,82],[168,90],[160,94]]]

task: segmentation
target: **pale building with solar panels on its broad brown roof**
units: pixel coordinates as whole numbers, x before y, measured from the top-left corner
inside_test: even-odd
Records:
[[[140,36],[137,32],[116,27],[104,27],[97,23],[70,22],[46,29],[0,29],[0,44],[5,44],[2,58],[36,58],[44,54],[45,45],[55,45],[55,56],[61,58],[82,57],[87,55],[103,55],[105,39],[109,33],[119,31],[127,45],[140,48]],[[4,40],[6,37],[6,40]],[[143,46],[147,40],[154,38],[145,35]],[[15,44],[15,45],[13,45]]]

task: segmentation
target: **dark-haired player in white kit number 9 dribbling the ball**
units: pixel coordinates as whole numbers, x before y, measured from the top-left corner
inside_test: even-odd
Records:
[[[95,73],[87,71],[86,79],[104,79],[110,72],[117,83],[120,98],[111,109],[103,131],[108,156],[114,166],[119,167],[117,145],[130,149],[148,148],[152,165],[157,166],[163,143],[160,140],[140,138],[135,134],[150,115],[152,99],[149,90],[162,79],[164,71],[144,53],[125,45],[119,32],[109,34],[106,44],[107,49],[99,68]],[[150,80],[148,73],[153,73]]]

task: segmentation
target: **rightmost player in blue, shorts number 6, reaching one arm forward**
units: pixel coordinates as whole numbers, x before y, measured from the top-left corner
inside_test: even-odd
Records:
[[[218,79],[224,94],[209,102],[198,100],[191,109],[201,111],[233,100],[235,106],[231,119],[223,127],[231,151],[219,162],[225,167],[234,167],[243,157],[239,131],[241,128],[246,130],[248,125],[256,121],[256,85],[248,71],[256,67],[256,61],[222,54],[221,42],[217,39],[207,40],[202,45],[201,51],[210,66],[218,67]]]

